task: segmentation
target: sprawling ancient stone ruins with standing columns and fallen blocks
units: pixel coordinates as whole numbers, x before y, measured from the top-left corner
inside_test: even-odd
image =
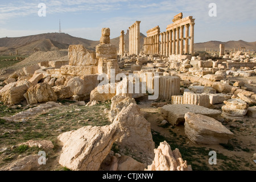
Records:
[[[193,159],[209,148],[253,151],[256,57],[243,48],[229,52],[224,44],[216,54],[199,54],[193,16],[180,13],[172,22],[164,32],[148,30],[141,49],[136,21],[129,27],[129,54],[123,30],[115,47],[110,28],[102,28],[95,51],[70,45],[66,59],[27,65],[6,77],[0,82],[2,138],[29,127],[34,136],[52,132],[56,146],[36,138],[1,145],[0,155],[9,160],[15,154],[9,151],[26,145],[46,148],[55,154],[49,161],[75,171],[191,171],[201,162]],[[20,155],[0,169],[43,170],[35,160]]]

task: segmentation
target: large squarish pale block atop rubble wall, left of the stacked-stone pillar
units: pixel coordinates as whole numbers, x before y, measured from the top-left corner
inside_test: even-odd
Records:
[[[82,45],[68,47],[69,65],[97,65],[96,53],[89,51]]]

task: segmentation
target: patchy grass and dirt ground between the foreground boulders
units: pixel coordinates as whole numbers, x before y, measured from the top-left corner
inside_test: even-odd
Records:
[[[255,152],[255,119],[246,117],[241,121],[225,122],[222,124],[234,133],[228,144],[195,144],[184,134],[184,125],[172,126],[162,124],[160,107],[151,106],[154,101],[145,98],[137,100],[144,118],[151,123],[151,133],[155,148],[166,140],[172,150],[179,148],[183,159],[191,164],[193,170],[255,170],[253,154]],[[157,102],[161,103],[161,102]],[[51,140],[54,148],[47,149],[47,164],[38,170],[67,170],[59,164],[61,147],[56,138],[65,131],[77,130],[83,126],[109,125],[108,111],[110,102],[94,106],[81,106],[77,102],[61,100],[59,106],[30,115],[19,122],[1,119],[0,129],[0,168],[7,166],[28,155],[37,155],[42,148],[18,146],[20,143],[33,140]],[[32,105],[31,107],[35,107]],[[28,107],[7,108],[1,104],[1,117],[9,117]],[[142,162],[143,156],[135,156],[132,151],[119,150],[114,144],[112,150],[121,155],[131,156]],[[209,151],[217,152],[217,165],[208,163]]]

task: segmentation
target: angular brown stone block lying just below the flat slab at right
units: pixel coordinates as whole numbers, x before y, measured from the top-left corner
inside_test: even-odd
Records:
[[[185,135],[193,143],[218,144],[228,143],[233,133],[216,119],[201,114],[185,114]]]

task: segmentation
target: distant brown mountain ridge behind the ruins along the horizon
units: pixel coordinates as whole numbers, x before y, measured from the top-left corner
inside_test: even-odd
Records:
[[[143,49],[143,38],[146,36],[141,33],[141,49]],[[0,38],[0,52],[15,52],[18,49],[19,54],[30,54],[33,51],[51,51],[56,49],[67,49],[72,44],[82,44],[85,48],[95,50],[99,41],[93,41],[83,38],[77,38],[65,33],[48,33],[23,36],[18,38]],[[119,48],[119,37],[111,39],[110,43]],[[246,50],[256,50],[256,42],[245,42],[243,40],[220,42],[209,41],[205,43],[195,43],[195,51],[205,51],[205,49],[218,50],[220,44],[225,45],[226,50],[245,47]],[[129,32],[125,34],[125,50],[129,50]]]

